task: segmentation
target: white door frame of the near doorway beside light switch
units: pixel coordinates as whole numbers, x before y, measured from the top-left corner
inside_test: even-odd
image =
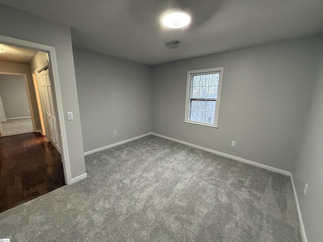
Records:
[[[53,101],[55,103],[55,111],[58,114],[58,117],[57,117],[57,121],[59,124],[58,133],[59,133],[60,143],[61,143],[61,155],[62,155],[62,161],[63,161],[65,183],[67,185],[72,184],[71,165],[70,165],[70,158],[69,158],[68,145],[67,145],[62,94],[61,94],[61,88],[60,88],[55,47],[39,44],[39,43],[27,41],[27,40],[12,38],[4,35],[0,35],[0,43],[47,52],[48,59],[49,59],[48,67],[50,67],[51,78],[52,78],[51,85],[53,85],[54,87],[52,89],[53,99],[54,99]]]

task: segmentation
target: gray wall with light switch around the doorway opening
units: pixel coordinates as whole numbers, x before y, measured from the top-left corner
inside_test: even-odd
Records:
[[[77,98],[70,28],[57,22],[0,5],[0,34],[55,47],[72,178],[85,173],[80,113]],[[66,115],[65,115],[66,120]]]

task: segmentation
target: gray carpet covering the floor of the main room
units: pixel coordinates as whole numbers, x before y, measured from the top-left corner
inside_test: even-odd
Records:
[[[155,136],[0,214],[11,241],[301,241],[290,178]]]

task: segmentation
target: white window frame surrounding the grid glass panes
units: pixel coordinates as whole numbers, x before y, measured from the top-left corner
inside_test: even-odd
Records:
[[[185,104],[185,120],[184,120],[184,124],[198,125],[198,126],[202,126],[202,127],[218,129],[223,69],[224,69],[223,67],[216,67],[216,68],[207,68],[207,69],[200,69],[200,70],[191,70],[191,71],[187,72],[186,104]],[[196,98],[191,98],[190,97],[191,96],[193,75],[212,74],[214,72],[220,73],[219,87],[218,87],[218,97],[210,99],[210,100],[216,100],[216,110],[214,110],[214,123],[210,124],[210,123],[204,123],[204,122],[198,122],[198,121],[190,120],[189,119],[190,100],[191,99],[196,99]],[[203,98],[203,99],[205,99],[205,98]],[[209,98],[206,98],[206,99],[209,99]]]

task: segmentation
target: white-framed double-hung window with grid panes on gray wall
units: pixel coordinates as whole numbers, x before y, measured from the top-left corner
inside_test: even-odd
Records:
[[[185,121],[218,128],[223,67],[187,72]]]

